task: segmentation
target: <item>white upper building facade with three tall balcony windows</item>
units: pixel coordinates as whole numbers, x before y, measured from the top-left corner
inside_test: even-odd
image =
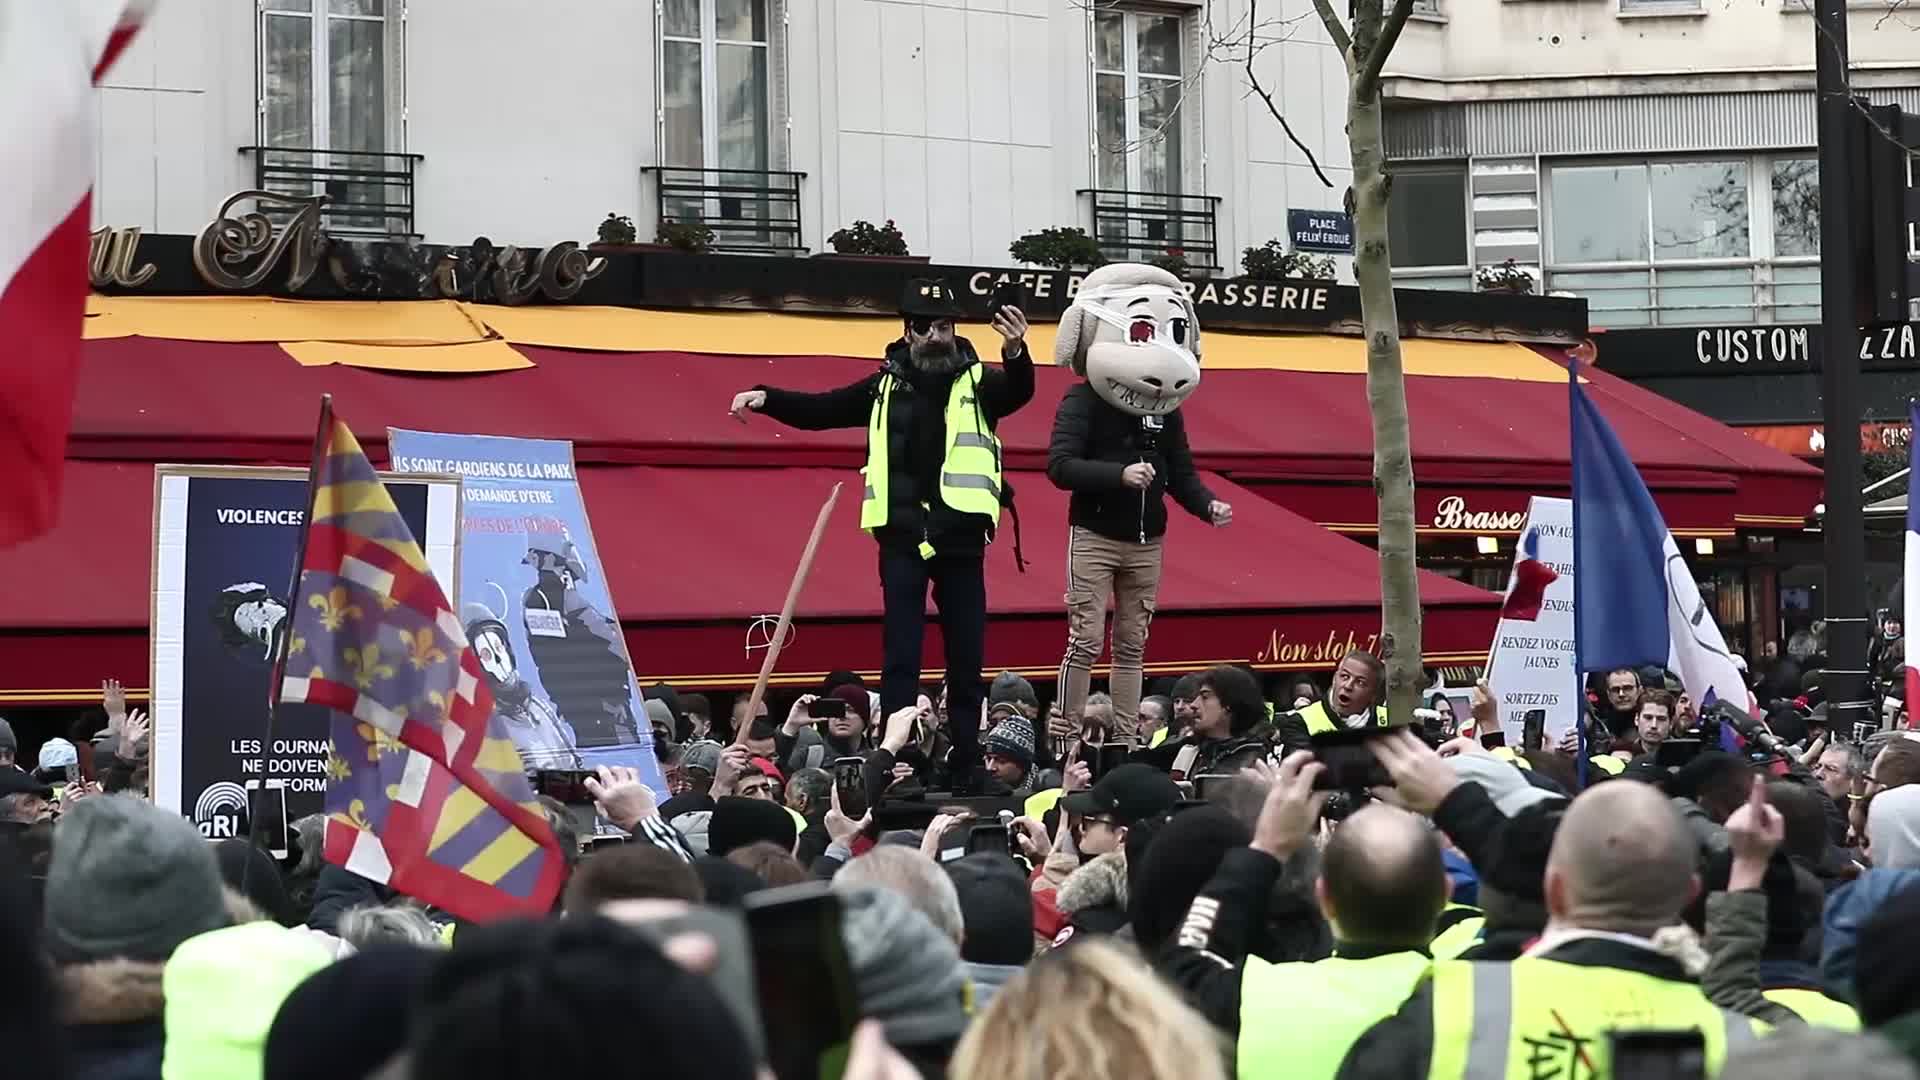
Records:
[[[98,225],[194,233],[244,188],[336,233],[914,254],[1006,263],[1081,227],[1235,273],[1348,183],[1346,73],[1308,0],[180,0],[100,94]],[[1327,177],[1246,90],[1256,71]],[[1344,277],[1344,275],[1342,275]]]

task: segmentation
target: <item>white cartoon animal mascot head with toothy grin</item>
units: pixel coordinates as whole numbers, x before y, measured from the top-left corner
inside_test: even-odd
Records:
[[[1123,413],[1162,417],[1200,386],[1200,319],[1181,279],[1110,263],[1081,279],[1060,315],[1054,363],[1073,365]]]

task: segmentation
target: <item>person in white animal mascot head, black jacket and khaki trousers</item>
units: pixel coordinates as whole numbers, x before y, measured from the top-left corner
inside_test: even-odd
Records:
[[[1200,384],[1200,321],[1171,273],[1114,263],[1089,273],[1060,317],[1054,361],[1085,380],[1054,413],[1046,477],[1073,494],[1068,519],[1066,732],[1081,732],[1092,663],[1114,601],[1114,736],[1131,740],[1140,663],[1160,590],[1165,496],[1225,527],[1233,507],[1200,480],[1181,402]]]

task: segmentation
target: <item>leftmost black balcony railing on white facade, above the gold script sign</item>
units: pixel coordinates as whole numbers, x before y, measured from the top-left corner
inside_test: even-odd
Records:
[[[413,173],[420,154],[242,146],[253,156],[253,186],[290,196],[328,196],[328,233],[415,236]]]

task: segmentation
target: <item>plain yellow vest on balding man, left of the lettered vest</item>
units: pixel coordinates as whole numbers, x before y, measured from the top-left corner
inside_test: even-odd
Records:
[[[1240,1080],[1332,1080],[1359,1036],[1392,1017],[1428,967],[1421,953],[1284,965],[1248,957],[1240,972]]]

